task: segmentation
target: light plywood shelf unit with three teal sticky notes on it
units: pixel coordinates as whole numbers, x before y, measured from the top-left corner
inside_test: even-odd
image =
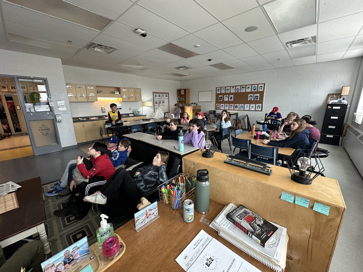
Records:
[[[183,172],[208,169],[211,199],[222,205],[243,204],[286,227],[290,238],[286,271],[328,271],[346,210],[338,181],[319,176],[313,184],[301,185],[290,179],[287,168],[272,165],[272,174],[267,176],[225,164],[225,158],[223,153],[203,158],[195,152],[183,158]],[[282,192],[308,199],[309,207],[282,200]],[[315,202],[329,206],[329,215],[314,211]]]

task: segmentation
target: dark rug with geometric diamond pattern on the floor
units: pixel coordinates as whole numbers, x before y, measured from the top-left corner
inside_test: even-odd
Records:
[[[50,250],[52,251],[46,256],[47,258],[57,254],[85,236],[87,236],[89,245],[96,243],[96,230],[100,226],[101,221],[99,217],[101,211],[97,211],[96,204],[93,205],[93,209],[88,211],[86,217],[81,220],[75,220],[74,215],[65,217],[55,216],[53,211],[62,209],[62,203],[68,202],[69,196],[61,197],[56,195],[49,197],[45,195],[44,193],[49,191],[49,187],[53,186],[54,183],[56,181],[42,186],[46,216],[45,230]],[[114,230],[116,230],[131,219],[130,217],[123,217],[109,223],[113,223]]]

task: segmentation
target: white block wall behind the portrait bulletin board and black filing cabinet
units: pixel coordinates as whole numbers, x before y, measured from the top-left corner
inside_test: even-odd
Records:
[[[198,102],[199,91],[213,91],[213,102],[200,102],[203,111],[215,109],[215,90],[220,86],[266,83],[264,107],[262,111],[238,111],[248,114],[251,122],[264,119],[273,107],[285,117],[294,111],[299,116],[309,114],[321,125],[325,113],[327,95],[340,93],[342,86],[351,86],[346,100],[351,105],[346,121],[351,120],[351,111],[356,109],[355,84],[362,58],[341,59],[338,61],[312,63],[256,72],[182,81],[181,88],[190,89],[190,101]],[[359,94],[361,90],[358,90]],[[360,95],[359,95],[360,96]],[[354,100],[353,100],[354,99]],[[359,98],[358,98],[359,99]],[[234,111],[234,110],[233,110]],[[219,111],[220,112],[220,111]],[[349,117],[348,117],[349,115]],[[350,121],[349,121],[350,122]]]

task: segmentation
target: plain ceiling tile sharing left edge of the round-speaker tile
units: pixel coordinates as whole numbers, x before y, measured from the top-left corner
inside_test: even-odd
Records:
[[[243,42],[221,23],[208,26],[194,34],[219,48],[226,48]]]

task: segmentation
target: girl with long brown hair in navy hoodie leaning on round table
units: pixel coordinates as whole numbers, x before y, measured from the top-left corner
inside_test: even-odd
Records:
[[[291,123],[291,134],[284,140],[264,140],[263,143],[274,147],[292,147],[309,149],[309,130],[305,129],[305,120],[294,119]]]

